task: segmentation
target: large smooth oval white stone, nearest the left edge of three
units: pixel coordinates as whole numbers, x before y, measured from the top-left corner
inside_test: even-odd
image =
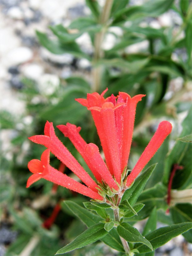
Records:
[[[10,66],[18,65],[30,61],[33,57],[33,52],[28,47],[18,47],[8,52],[7,62]]]

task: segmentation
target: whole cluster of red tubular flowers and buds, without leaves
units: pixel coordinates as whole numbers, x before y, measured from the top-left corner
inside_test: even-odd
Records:
[[[127,166],[130,154],[136,105],[145,95],[140,94],[131,98],[127,93],[119,92],[117,97],[112,94],[105,99],[104,94],[106,91],[107,89],[101,95],[97,92],[88,93],[87,99],[76,99],[91,111],[105,155],[105,162],[99,153],[97,145],[93,143],[87,144],[81,137],[79,134],[81,127],[76,127],[70,123],[67,123],[66,126],[57,126],[81,154],[98,184],[57,138],[53,124],[47,121],[44,135],[35,135],[29,138],[37,144],[44,145],[47,150],[42,153],[41,160],[34,159],[28,163],[28,168],[33,175],[29,177],[27,187],[44,178],[100,201],[105,201],[103,194],[99,192],[102,184],[108,186],[114,193],[119,193],[122,189],[130,187],[140,171],[143,170],[165,138],[170,134],[172,126],[168,121],[160,122],[154,136],[130,175],[125,177],[122,184],[121,181],[124,178],[122,174]],[[85,185],[53,168],[49,164],[50,151],[75,173]]]

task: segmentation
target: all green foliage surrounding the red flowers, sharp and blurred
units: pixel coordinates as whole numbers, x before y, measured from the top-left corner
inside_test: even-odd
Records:
[[[94,249],[100,241],[117,250],[118,255],[125,255],[120,236],[128,241],[132,254],[139,251],[141,256],[154,255],[152,249],[182,233],[188,242],[192,242],[192,231],[189,230],[192,228],[191,204],[182,201],[183,198],[178,204],[168,206],[166,202],[167,186],[175,164],[182,170],[175,172],[171,189],[182,191],[191,188],[192,111],[191,102],[185,101],[192,79],[191,3],[189,0],[178,3],[174,0],[149,0],[138,6],[130,5],[129,0],[113,0],[107,14],[106,9],[103,12],[107,7],[101,7],[99,1],[85,2],[91,11],[90,16],[79,17],[68,27],[62,24],[50,26],[52,36],[41,32],[41,29],[36,33],[42,47],[57,55],[69,53],[77,62],[85,58],[90,62],[91,71],[86,70],[76,76],[78,71],[66,79],[62,78],[51,95],[42,92],[36,81],[22,78],[24,87],[20,96],[26,105],[26,113],[15,116],[3,109],[0,112],[2,137],[4,132],[13,132],[8,148],[1,148],[2,213],[3,216],[11,215],[12,228],[19,231],[17,239],[8,246],[6,255],[9,256],[21,254],[33,239],[37,244],[31,255],[39,256],[53,255],[67,242],[69,244],[57,254],[77,255],[68,252],[79,248],[79,255],[85,255],[86,249],[80,248],[86,245],[87,250],[92,248],[90,252],[96,253]],[[155,28],[152,21],[158,22],[161,14],[170,11],[179,15],[180,24]],[[85,32],[90,37],[92,53],[85,52],[76,40]],[[108,35],[115,38],[114,44],[104,50],[101,44]],[[135,51],[136,46],[139,48]],[[178,78],[181,80],[179,86]],[[27,163],[31,159],[39,159],[43,151],[41,146],[28,144],[27,137],[43,134],[47,120],[52,121],[54,127],[67,122],[81,126],[81,135],[86,142],[96,143],[101,150],[89,112],[74,99],[86,98],[86,94],[93,91],[101,93],[106,87],[107,96],[112,93],[116,96],[119,91],[125,91],[131,97],[146,94],[136,110],[128,168],[134,166],[156,125],[166,119],[173,123],[172,134],[150,160],[146,170],[124,192],[119,204],[119,220],[115,219],[111,205],[94,200],[88,202],[63,188],[58,188],[57,194],[53,194],[52,184],[45,180],[39,180],[30,189],[25,188],[29,177]],[[186,117],[180,125],[180,115],[184,112]],[[29,123],[25,120],[27,116],[31,117]],[[80,155],[69,140],[55,130],[82,164]],[[51,155],[51,164],[58,169],[60,162]],[[85,163],[82,165],[84,167]],[[87,166],[85,169],[90,172]],[[69,174],[67,168],[65,171]],[[61,198],[64,199],[62,211],[55,224],[50,229],[43,228],[44,219],[51,216],[53,205]],[[169,215],[165,214],[168,208]],[[140,234],[132,225],[145,218],[148,220]],[[167,226],[156,229],[157,221]],[[71,242],[71,239],[74,240]],[[93,247],[89,247],[96,241]],[[99,254],[104,253],[100,247]]]

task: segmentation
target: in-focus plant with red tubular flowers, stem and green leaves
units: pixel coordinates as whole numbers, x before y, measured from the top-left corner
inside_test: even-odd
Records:
[[[88,229],[70,244],[58,250],[57,254],[81,248],[97,240],[102,240],[113,249],[120,251],[121,255],[143,254],[154,251],[171,238],[192,228],[192,223],[185,222],[156,229],[155,208],[149,213],[143,234],[129,223],[130,217],[137,215],[145,207],[144,204],[135,204],[135,202],[155,165],[150,166],[141,175],[139,174],[171,133],[172,125],[168,121],[160,122],[135,167],[128,174],[127,163],[136,106],[145,95],[140,94],[131,98],[127,93],[119,92],[116,97],[112,94],[104,98],[106,91],[107,89],[101,95],[97,92],[88,93],[87,99],[76,99],[91,111],[105,161],[97,145],[87,144],[81,137],[80,127],[70,123],[57,126],[71,140],[95,179],[91,178],[57,138],[52,123],[47,121],[44,135],[29,138],[37,144],[44,145],[47,149],[42,153],[41,160],[33,159],[28,163],[28,168],[33,174],[27,180],[27,187],[43,178],[91,198],[91,202],[84,203],[86,209],[74,202],[64,202],[65,206],[79,217]],[[84,185],[53,168],[49,161],[50,151],[76,174]]]

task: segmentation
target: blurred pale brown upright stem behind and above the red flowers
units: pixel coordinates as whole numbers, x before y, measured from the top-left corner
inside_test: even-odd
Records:
[[[103,51],[101,48],[103,38],[105,36],[106,30],[107,30],[107,22],[110,17],[111,13],[111,7],[113,4],[113,0],[106,0],[105,5],[103,7],[103,10],[101,12],[101,15],[99,17],[99,23],[101,25],[104,25],[103,28],[101,29],[101,32],[96,33],[95,35],[95,40],[94,40],[94,47],[95,47],[95,52],[94,52],[94,57],[93,57],[93,66],[98,62],[103,57]],[[101,82],[101,71],[102,68],[101,66],[96,66],[93,67],[92,70],[92,77],[93,77],[93,86],[92,86],[92,91],[99,91],[100,88],[100,82]]]

